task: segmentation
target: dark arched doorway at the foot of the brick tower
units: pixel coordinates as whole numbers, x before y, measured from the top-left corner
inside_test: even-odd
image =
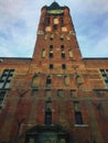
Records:
[[[35,125],[26,131],[25,143],[69,143],[69,134],[58,124]]]

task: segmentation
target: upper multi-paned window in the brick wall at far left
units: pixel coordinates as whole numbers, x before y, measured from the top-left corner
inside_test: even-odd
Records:
[[[13,77],[14,69],[4,69],[0,78],[0,88],[10,88],[10,82]]]

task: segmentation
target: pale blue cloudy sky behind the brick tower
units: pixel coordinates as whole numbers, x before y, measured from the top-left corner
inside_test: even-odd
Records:
[[[41,8],[53,0],[0,0],[0,57],[32,57]],[[108,0],[56,0],[67,6],[83,57],[108,57]]]

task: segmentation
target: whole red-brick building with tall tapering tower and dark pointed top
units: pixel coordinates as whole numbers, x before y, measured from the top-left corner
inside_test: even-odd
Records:
[[[0,58],[0,143],[108,143],[108,58],[83,58],[69,9],[43,7],[32,58]]]

